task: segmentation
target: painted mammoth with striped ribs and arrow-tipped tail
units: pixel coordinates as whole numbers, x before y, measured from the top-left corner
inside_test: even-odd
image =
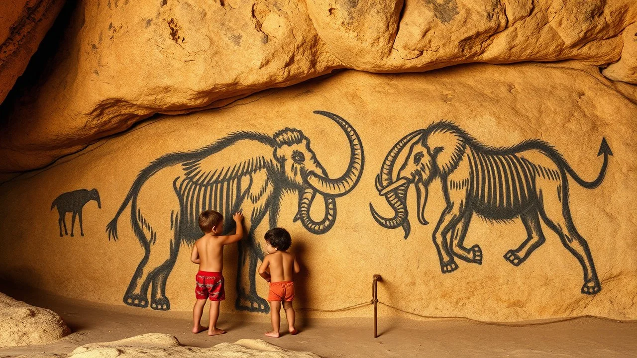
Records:
[[[403,150],[408,150],[406,158],[394,176],[396,159]],[[434,228],[433,241],[442,273],[458,268],[454,257],[482,264],[480,247],[464,246],[473,213],[492,223],[520,217],[527,238],[520,247],[504,255],[513,266],[526,261],[544,242],[541,218],[582,265],[582,293],[596,294],[601,285],[587,242],[571,218],[567,174],[582,187],[598,187],[606,173],[608,156],[613,155],[605,139],[598,156],[602,154],[604,162],[598,177],[586,182],[545,141],[527,140],[512,147],[490,147],[457,125],[436,122],[398,141],[376,176],[376,189],[392,207],[394,216],[382,217],[371,204],[369,207],[378,224],[392,229],[402,227],[406,239],[410,233],[406,206],[408,187],[414,185],[417,218],[420,224],[427,225],[425,206],[429,183],[440,178],[447,207]]]

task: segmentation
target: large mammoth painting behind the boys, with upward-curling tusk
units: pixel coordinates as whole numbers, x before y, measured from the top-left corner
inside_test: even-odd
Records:
[[[339,178],[327,175],[310,139],[290,128],[274,136],[234,132],[199,150],[163,155],[141,170],[106,227],[109,240],[117,240],[117,219],[130,203],[132,229],[145,254],[124,294],[125,304],[147,307],[150,287],[150,307],[169,310],[166,280],[182,243],[192,245],[202,235],[197,224],[199,213],[222,213],[227,233],[234,231],[232,213],[243,210],[248,235],[239,241],[235,307],[269,311],[268,302],[259,297],[255,287],[257,261],[264,257],[255,230],[266,214],[269,227],[276,227],[283,194],[294,193],[298,195],[294,222],[301,220],[310,233],[327,233],[336,220],[336,197],[354,189],[363,169],[362,143],[354,128],[334,113],[314,113],[334,120],[347,135],[350,159]],[[166,189],[174,194],[157,194]],[[325,210],[324,217],[315,221],[310,209],[317,195]]]

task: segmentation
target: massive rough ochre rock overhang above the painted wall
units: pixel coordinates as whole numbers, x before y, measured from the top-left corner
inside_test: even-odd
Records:
[[[633,0],[78,1],[47,75],[8,115],[0,172],[40,168],[155,113],[220,106],[339,68],[603,66],[620,58],[622,31],[636,20]]]

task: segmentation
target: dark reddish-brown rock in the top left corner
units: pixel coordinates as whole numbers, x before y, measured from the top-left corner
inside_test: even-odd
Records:
[[[0,3],[0,103],[36,52],[64,0]]]

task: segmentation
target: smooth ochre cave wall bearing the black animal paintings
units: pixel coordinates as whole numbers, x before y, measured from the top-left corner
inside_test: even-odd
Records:
[[[368,303],[372,276],[380,274],[380,301],[419,315],[487,321],[580,315],[637,319],[637,209],[633,204],[637,201],[637,182],[633,180],[637,171],[636,99],[633,85],[612,82],[597,67],[578,62],[468,64],[401,75],[342,71],[320,80],[254,94],[215,110],[158,116],[125,134],[100,140],[47,169],[25,173],[0,185],[0,276],[31,283],[40,290],[101,303],[143,306],[144,301],[146,308],[138,310],[189,311],[197,266],[190,262],[187,243],[201,235],[192,220],[204,203],[225,202],[219,198],[229,194],[222,193],[238,188],[234,186],[238,185],[236,181],[224,187],[216,182],[206,186],[208,180],[233,173],[234,178],[245,175],[241,176],[242,185],[256,186],[268,179],[268,185],[249,187],[250,193],[255,194],[251,198],[257,202],[266,194],[275,200],[278,196],[271,190],[281,190],[275,190],[282,194],[280,210],[261,216],[261,221],[252,216],[253,208],[247,199],[241,201],[241,207],[247,220],[256,221],[257,243],[263,242],[270,224],[285,227],[292,234],[291,250],[302,263],[302,273],[295,279],[298,308],[333,310]],[[256,168],[264,159],[273,157],[274,144],[250,139],[259,137],[257,134],[206,156],[197,164],[200,168],[193,171],[190,169],[195,168],[194,162],[189,164],[187,157],[180,155],[164,157],[159,167],[150,166],[163,155],[200,150],[233,132],[261,132],[264,134],[259,138],[272,138],[289,128],[303,132],[316,160],[330,178],[338,178],[348,167],[350,145],[340,127],[333,120],[314,114],[316,110],[347,120],[364,149],[362,175],[351,192],[334,199],[334,224],[326,233],[310,233],[302,220],[293,220],[299,212],[297,189],[303,189],[306,182],[299,183],[296,189],[283,190],[280,185],[285,180],[276,176],[276,171],[246,174],[248,168]],[[560,184],[568,185],[573,225],[587,241],[601,292],[582,294],[580,262],[544,221],[541,229],[546,241],[519,266],[506,261],[503,256],[527,238],[524,225],[515,217],[490,220],[473,215],[464,245],[480,245],[482,264],[455,259],[459,267],[451,273],[441,273],[432,238],[447,203],[438,179],[430,184],[424,212],[431,224],[422,225],[417,220],[413,189],[406,194],[411,222],[406,240],[402,229],[385,229],[376,223],[370,203],[380,215],[392,215],[376,188],[376,176],[386,155],[406,134],[439,120],[454,122],[480,143],[492,147],[509,147],[540,138],[553,145],[585,181],[594,180],[603,162],[608,161],[605,177],[596,189],[585,189],[566,174]],[[297,138],[293,133],[283,132],[283,139]],[[612,156],[608,151],[598,156],[603,138]],[[307,151],[298,150],[301,154]],[[276,153],[283,155],[283,150]],[[288,155],[286,178],[306,175],[307,171],[299,171],[296,164],[288,166],[292,159],[303,162],[303,158],[299,154]],[[403,161],[405,157],[406,152],[401,152],[396,160]],[[394,177],[399,167],[396,164]],[[142,177],[148,178],[134,189],[133,183],[142,171]],[[537,175],[545,179],[553,176],[551,180],[555,181],[559,173],[542,171]],[[483,175],[480,182],[495,177],[494,171]],[[509,189],[502,185],[504,189],[499,190],[512,190],[511,183],[507,183]],[[242,188],[241,193],[245,192]],[[75,220],[75,236],[70,236],[71,212],[66,213],[68,233],[64,233],[55,210],[62,206],[53,204],[59,204],[56,198],[61,194],[78,189],[87,189],[83,192],[87,195],[82,211],[84,236],[80,234],[79,218]],[[92,189],[99,192],[101,208],[97,199],[88,201]],[[135,198],[133,207],[125,203],[130,189]],[[320,197],[317,195],[310,210],[313,220],[323,218],[325,209]],[[552,215],[560,215],[562,210],[556,200],[564,199],[563,192],[554,186],[545,190],[543,197],[552,200],[552,204],[543,207],[550,209]],[[118,240],[114,241],[109,239],[106,227],[122,203],[125,205],[117,220]],[[82,204],[79,202],[80,207]],[[143,245],[131,228],[131,210],[132,222],[139,223],[136,225],[144,233]],[[277,220],[271,221],[269,215]],[[176,220],[178,217],[183,222]],[[175,253],[171,240],[175,239],[176,225],[180,227],[177,238],[187,241],[177,246],[180,249]],[[150,239],[152,245],[147,241]],[[564,243],[568,243],[566,238]],[[149,250],[147,261],[145,247]],[[171,247],[175,266],[162,271],[172,263]],[[238,271],[237,250],[235,245],[225,250],[224,312],[236,311],[237,303],[250,304],[246,297],[238,297],[236,289],[240,272],[239,285],[250,293],[250,268],[242,262]],[[59,269],[61,262],[64,270]],[[140,262],[140,276],[135,276]],[[149,275],[151,272],[162,274]],[[134,292],[126,296],[134,276],[138,277],[132,285]],[[255,294],[266,297],[267,283],[259,276],[256,279]],[[146,289],[140,288],[143,282],[147,282]],[[138,302],[128,301],[131,297]],[[255,304],[262,302],[252,299]],[[303,314],[369,317],[371,308]]]

